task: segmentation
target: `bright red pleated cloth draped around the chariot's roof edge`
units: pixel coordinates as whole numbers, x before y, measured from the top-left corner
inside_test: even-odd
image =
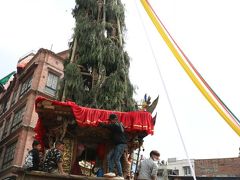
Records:
[[[123,123],[126,131],[143,131],[147,134],[153,134],[153,119],[151,114],[146,111],[119,112],[111,110],[93,109],[78,106],[72,101],[60,102],[49,100],[44,97],[37,97],[35,102],[37,113],[38,103],[41,103],[43,101],[48,101],[53,106],[57,105],[71,107],[75,120],[80,127],[96,127],[98,126],[99,122],[107,123],[109,115],[114,113],[118,116],[119,121]],[[37,133],[36,139],[39,140],[45,134],[45,128],[42,126],[41,119],[39,119],[36,124],[35,132]]]

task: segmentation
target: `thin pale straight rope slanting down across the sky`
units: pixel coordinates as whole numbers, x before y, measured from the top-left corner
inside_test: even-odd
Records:
[[[139,9],[138,9],[138,7],[137,7],[136,1],[134,1],[134,2],[135,2],[135,6],[136,6],[136,8],[137,8],[138,16],[139,16],[139,18],[140,18],[140,20],[141,20],[141,24],[142,24],[142,26],[143,26],[145,35],[146,35],[146,37],[147,37],[148,45],[149,45],[149,47],[150,47],[150,50],[151,50],[153,59],[154,59],[155,64],[156,64],[156,66],[157,66],[158,74],[159,74],[159,77],[160,77],[160,79],[161,79],[161,82],[162,82],[162,85],[163,85],[163,88],[164,88],[164,92],[165,92],[165,94],[166,94],[167,101],[168,101],[168,103],[169,103],[169,106],[170,106],[170,109],[171,109],[171,112],[172,112],[172,115],[173,115],[173,119],[174,119],[174,121],[175,121],[177,130],[178,130],[178,133],[179,133],[179,136],[180,136],[180,139],[181,139],[181,142],[182,142],[182,145],[183,145],[183,148],[184,148],[184,151],[185,151],[187,160],[188,160],[188,164],[189,164],[189,167],[190,167],[190,169],[191,169],[192,176],[193,176],[194,180],[196,180],[195,171],[194,171],[194,169],[193,169],[193,167],[192,167],[192,164],[191,164],[191,161],[190,161],[190,159],[189,159],[189,155],[188,155],[188,152],[187,152],[187,148],[186,148],[186,145],[185,145],[185,143],[184,143],[184,140],[183,140],[183,137],[182,137],[182,133],[181,133],[181,130],[180,130],[178,121],[177,121],[177,117],[176,117],[176,114],[175,114],[175,111],[174,111],[174,108],[173,108],[171,99],[170,99],[169,94],[168,94],[168,90],[167,90],[167,87],[166,87],[166,83],[165,83],[164,78],[163,78],[163,76],[162,76],[161,69],[160,69],[160,67],[159,67],[159,64],[158,64],[158,61],[157,61],[155,52],[154,52],[154,50],[153,50],[152,44],[151,44],[151,42],[150,42],[150,38],[149,38],[149,36],[148,36],[146,27],[145,27],[145,25],[144,25],[144,23],[143,23],[142,16],[141,16],[141,14],[140,14],[140,12],[139,12]]]

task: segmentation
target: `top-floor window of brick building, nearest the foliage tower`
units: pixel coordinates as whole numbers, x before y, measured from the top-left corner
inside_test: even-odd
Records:
[[[55,74],[48,73],[48,80],[47,80],[47,84],[45,87],[45,92],[55,96],[56,91],[57,91],[58,79],[59,79],[59,77],[56,76]]]

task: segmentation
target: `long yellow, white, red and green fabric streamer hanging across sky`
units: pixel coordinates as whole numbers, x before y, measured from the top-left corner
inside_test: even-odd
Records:
[[[187,59],[185,54],[177,46],[175,41],[172,39],[170,34],[167,32],[164,25],[161,23],[160,19],[154,13],[154,10],[150,6],[148,0],[141,0],[141,3],[150,17],[151,21],[155,25],[159,34],[165,41],[168,48],[171,50],[175,58],[178,60],[182,68],[188,74],[190,79],[208,100],[208,102],[215,108],[220,116],[228,123],[228,125],[240,136],[240,122],[234,116],[234,114],[226,107],[226,105],[221,101],[221,99],[214,93],[206,81],[200,76],[198,71],[194,68],[191,62]],[[178,49],[177,49],[178,48]]]

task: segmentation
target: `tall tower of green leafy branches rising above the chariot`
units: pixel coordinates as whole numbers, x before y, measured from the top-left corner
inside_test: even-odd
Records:
[[[76,0],[70,59],[64,65],[59,97],[87,107],[135,109],[124,51],[124,6],[120,0]]]

